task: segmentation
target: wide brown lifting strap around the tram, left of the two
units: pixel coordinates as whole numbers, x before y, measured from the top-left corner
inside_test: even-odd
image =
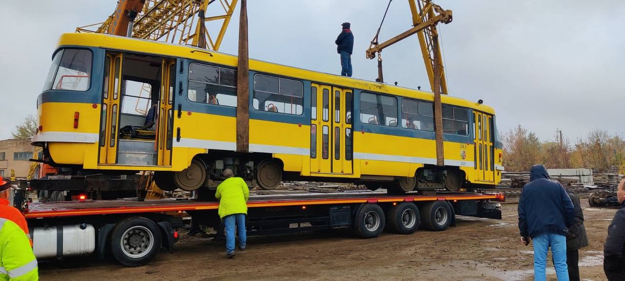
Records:
[[[237,66],[236,95],[236,150],[238,152],[249,152],[249,54],[247,50],[247,0],[241,0],[241,17],[239,18],[239,62]]]

